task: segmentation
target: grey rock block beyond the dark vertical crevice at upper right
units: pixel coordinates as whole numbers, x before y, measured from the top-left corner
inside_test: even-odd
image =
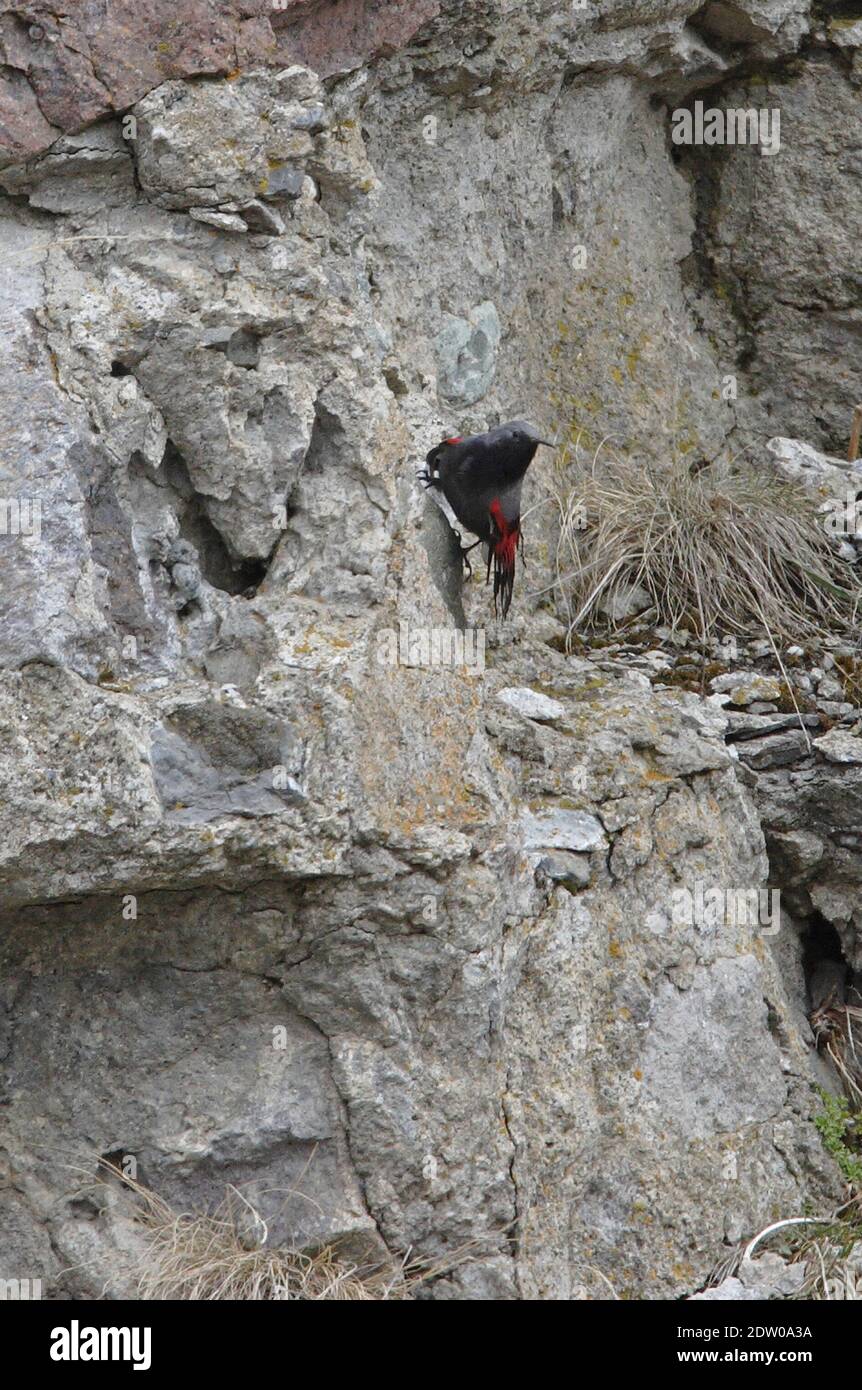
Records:
[[[741,414],[758,432],[779,420],[783,435],[844,457],[862,399],[858,82],[830,32],[786,74],[723,85],[720,104],[780,111],[781,149],[713,161],[702,211],[708,277],[747,363]]]

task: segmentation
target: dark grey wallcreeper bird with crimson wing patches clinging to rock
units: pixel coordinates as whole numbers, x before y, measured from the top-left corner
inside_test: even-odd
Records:
[[[467,573],[470,550],[487,546],[485,582],[494,564],[494,612],[499,599],[503,617],[512,603],[514,555],[519,546],[523,555],[524,545],[521,485],[541,443],[553,449],[526,420],[512,420],[467,439],[452,435],[431,449],[418,475],[425,488],[444,493],[460,524],[478,537],[473,545],[462,546]]]

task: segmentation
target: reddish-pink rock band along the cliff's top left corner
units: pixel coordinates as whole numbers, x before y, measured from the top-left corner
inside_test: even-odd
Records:
[[[439,0],[0,0],[0,165],[168,78],[289,63],[328,76],[438,14]]]

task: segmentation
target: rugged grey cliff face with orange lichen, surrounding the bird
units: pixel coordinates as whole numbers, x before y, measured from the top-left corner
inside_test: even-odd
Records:
[[[799,933],[678,895],[795,884],[859,967],[854,769],[809,826],[715,705],[555,648],[552,461],[505,628],[413,474],[516,414],[837,448],[859,25],[68,10],[0,6],[0,1276],[133,1287],[108,1156],[273,1243],[460,1252],[432,1297],[690,1293],[840,1183]],[[780,156],[680,157],[670,108],[752,85]],[[464,621],[484,662],[428,662]]]

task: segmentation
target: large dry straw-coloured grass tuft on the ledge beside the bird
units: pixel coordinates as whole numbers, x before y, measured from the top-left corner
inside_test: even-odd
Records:
[[[569,635],[641,585],[655,621],[798,642],[855,627],[862,589],[805,489],[777,468],[685,460],[658,468],[609,450],[560,460],[556,584]]]

